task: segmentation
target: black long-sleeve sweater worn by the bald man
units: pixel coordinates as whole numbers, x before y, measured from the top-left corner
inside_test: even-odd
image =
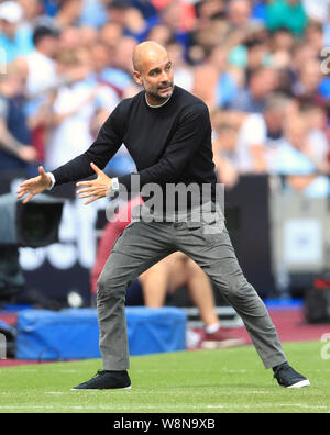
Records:
[[[177,86],[170,99],[158,108],[146,103],[145,91],[121,101],[90,148],[53,171],[55,186],[91,176],[91,161],[103,169],[122,144],[135,161],[141,188],[147,183],[163,188],[166,183],[208,183],[216,200],[208,108]],[[128,191],[131,175],[119,177]]]

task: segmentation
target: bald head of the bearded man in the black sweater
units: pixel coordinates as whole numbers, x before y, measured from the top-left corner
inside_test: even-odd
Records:
[[[161,104],[172,96],[173,65],[162,45],[152,41],[139,44],[133,53],[133,68],[134,79],[145,89],[151,104]]]

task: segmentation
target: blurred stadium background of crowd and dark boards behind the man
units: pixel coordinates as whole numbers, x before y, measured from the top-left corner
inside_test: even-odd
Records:
[[[84,153],[118,102],[140,91],[131,55],[145,40],[168,48],[176,85],[209,107],[248,279],[266,302],[329,322],[329,0],[1,1],[2,319],[92,306],[108,200],[85,208],[72,185],[30,209],[12,198],[40,164],[52,170]],[[124,145],[106,168],[133,170]],[[226,323],[233,313],[216,289],[215,298]],[[193,308],[185,288],[166,303]]]

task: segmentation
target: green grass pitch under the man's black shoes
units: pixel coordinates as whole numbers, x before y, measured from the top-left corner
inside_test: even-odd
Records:
[[[0,369],[0,413],[328,413],[330,359],[321,342],[284,345],[310,388],[278,387],[252,346],[131,358],[131,390],[72,391],[101,360]]]

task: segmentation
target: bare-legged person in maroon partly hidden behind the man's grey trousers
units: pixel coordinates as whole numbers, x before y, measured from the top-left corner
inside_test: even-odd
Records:
[[[131,222],[132,210],[143,200],[140,196],[119,208],[118,214],[106,226],[91,270],[90,285],[94,295],[97,293],[97,280],[119,235]],[[244,341],[234,338],[224,330],[215,310],[215,297],[210,281],[199,266],[183,253],[174,253],[157,263],[131,283],[127,289],[127,305],[161,308],[166,298],[170,298],[182,287],[187,290],[194,304],[200,311],[205,323],[205,342],[218,342],[222,345],[241,345]]]

